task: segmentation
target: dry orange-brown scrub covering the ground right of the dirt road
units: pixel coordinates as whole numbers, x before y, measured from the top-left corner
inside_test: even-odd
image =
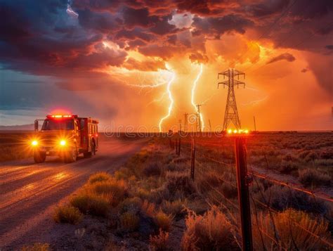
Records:
[[[296,165],[293,167],[296,169],[291,174],[304,186],[331,186],[327,177],[332,173],[327,166],[311,169],[315,160],[331,160],[330,155],[317,153],[324,159],[307,154],[308,157],[300,159],[299,150],[288,150],[288,153],[279,150],[275,154],[276,149],[270,153],[266,148],[261,149],[258,142],[249,141],[251,165],[260,163],[263,168],[270,168],[267,162],[275,167],[292,162],[290,166]],[[326,141],[331,142],[325,138]],[[283,142],[279,144],[284,147]],[[237,188],[230,185],[236,184],[235,169],[221,168],[204,160],[204,155],[221,157],[223,162],[233,164],[233,150],[226,146],[218,149],[218,153],[204,146],[198,149],[195,181],[192,181],[188,152],[183,148],[178,156],[166,139],[154,139],[114,174],[91,176],[67,205],[57,207],[54,219],[78,224],[78,228],[88,218],[103,219],[107,226],[105,248],[109,250],[128,247],[133,250],[240,250]],[[325,143],[321,151],[326,153],[330,147]],[[254,149],[256,153],[252,153]],[[263,158],[261,162],[259,158]],[[273,159],[276,161],[272,162]],[[310,164],[303,167],[301,163],[307,161]],[[252,184],[251,195],[256,250],[327,250],[327,246],[304,230],[309,229],[322,240],[332,242],[333,214],[327,202],[262,180]],[[263,205],[268,205],[274,213]]]

